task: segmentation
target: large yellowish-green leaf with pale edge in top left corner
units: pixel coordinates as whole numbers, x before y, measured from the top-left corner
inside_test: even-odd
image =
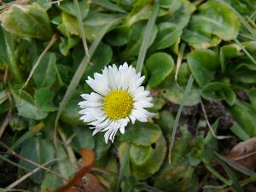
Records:
[[[20,37],[49,40],[53,35],[49,16],[37,3],[13,4],[9,10],[3,12],[0,20],[6,31]]]

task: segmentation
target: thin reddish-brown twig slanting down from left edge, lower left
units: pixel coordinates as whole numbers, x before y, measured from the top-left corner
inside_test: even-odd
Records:
[[[42,166],[42,165],[40,165],[40,164],[38,164],[38,163],[36,163],[36,162],[34,162],[34,161],[32,161],[32,160],[26,159],[25,157],[21,156],[20,154],[17,154],[14,150],[12,150],[11,148],[9,148],[6,144],[4,144],[4,143],[1,142],[1,141],[0,141],[0,144],[3,145],[4,148],[7,148],[11,154],[15,155],[15,156],[18,157],[20,160],[24,160],[24,161],[26,161],[26,162],[28,162],[28,163],[34,165],[34,166],[38,166],[38,167],[44,169],[46,172],[52,173],[52,174],[54,174],[56,177],[60,177],[60,178],[62,178],[63,180],[65,180],[65,181],[68,182],[68,179],[67,179],[66,177],[61,176],[59,173],[53,172],[53,171],[49,170],[47,167]]]

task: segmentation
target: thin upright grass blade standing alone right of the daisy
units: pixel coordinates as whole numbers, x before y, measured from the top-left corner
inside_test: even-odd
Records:
[[[188,82],[188,84],[186,86],[186,89],[184,91],[183,101],[182,101],[181,105],[178,108],[177,116],[176,116],[176,119],[175,119],[174,125],[173,125],[172,137],[171,137],[171,141],[170,141],[170,145],[169,145],[169,152],[168,152],[168,162],[169,162],[169,164],[171,164],[172,148],[173,148],[173,144],[174,144],[174,141],[175,141],[175,135],[176,135],[176,131],[177,131],[177,124],[178,124],[178,121],[180,119],[180,115],[183,111],[184,103],[185,103],[187,97],[189,96],[189,91],[191,90],[193,82],[194,82],[194,78],[192,77],[192,75],[190,75],[189,82]]]

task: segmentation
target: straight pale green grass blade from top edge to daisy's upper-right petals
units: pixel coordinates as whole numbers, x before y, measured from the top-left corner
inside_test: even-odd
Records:
[[[139,52],[139,55],[137,58],[137,67],[136,67],[137,73],[141,73],[143,70],[143,62],[145,60],[146,52],[148,49],[149,38],[150,38],[150,35],[151,35],[153,27],[154,27],[154,22],[156,20],[158,10],[159,10],[159,1],[155,0],[154,1],[154,9],[153,9],[152,15],[150,16],[150,18],[148,20],[148,24],[146,26],[145,34],[143,37],[143,43],[141,45],[140,52]]]

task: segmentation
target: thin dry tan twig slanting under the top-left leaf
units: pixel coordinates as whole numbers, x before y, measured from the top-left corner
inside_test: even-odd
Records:
[[[26,85],[28,84],[28,82],[30,81],[30,79],[32,79],[32,75],[35,72],[35,70],[37,69],[37,67],[39,66],[41,60],[43,59],[44,55],[47,53],[47,51],[51,48],[51,46],[53,44],[55,44],[55,41],[58,39],[58,35],[54,34],[53,37],[50,39],[49,44],[47,44],[46,48],[44,49],[44,51],[41,53],[41,55],[39,55],[38,57],[38,61],[35,63],[35,65],[32,67],[31,72],[29,73],[28,78],[26,79],[25,84],[23,84],[23,86],[20,88],[20,90],[23,90]]]

